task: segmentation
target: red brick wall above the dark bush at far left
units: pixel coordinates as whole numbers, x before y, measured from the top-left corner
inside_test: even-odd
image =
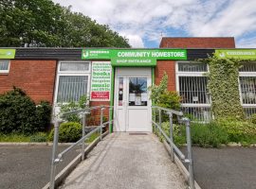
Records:
[[[36,102],[52,103],[56,60],[11,60],[8,75],[0,75],[0,94],[20,87]]]

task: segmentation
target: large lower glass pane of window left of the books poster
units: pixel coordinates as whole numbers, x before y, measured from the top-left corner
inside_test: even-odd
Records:
[[[87,93],[88,76],[60,76],[57,102],[77,102]]]

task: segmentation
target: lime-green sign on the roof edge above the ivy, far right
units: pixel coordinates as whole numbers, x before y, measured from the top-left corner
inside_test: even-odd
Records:
[[[215,50],[218,58],[253,60],[256,59],[256,49],[235,49],[235,50]]]

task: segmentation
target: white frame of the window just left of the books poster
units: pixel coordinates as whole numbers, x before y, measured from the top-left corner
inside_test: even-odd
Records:
[[[89,63],[88,70],[86,71],[61,71],[61,64],[63,62],[86,62]],[[91,61],[88,60],[59,60],[58,61],[58,67],[57,67],[57,74],[56,74],[56,87],[55,87],[55,93],[54,93],[54,104],[55,105],[60,105],[60,104],[65,104],[67,102],[57,102],[57,97],[58,97],[58,90],[59,90],[59,84],[60,84],[60,77],[79,77],[79,76],[86,76],[88,77],[87,81],[87,92],[86,95],[89,96],[90,90],[91,90]]]

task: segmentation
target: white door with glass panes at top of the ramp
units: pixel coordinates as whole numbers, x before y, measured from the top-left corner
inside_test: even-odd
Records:
[[[114,131],[152,131],[151,68],[117,68]]]

